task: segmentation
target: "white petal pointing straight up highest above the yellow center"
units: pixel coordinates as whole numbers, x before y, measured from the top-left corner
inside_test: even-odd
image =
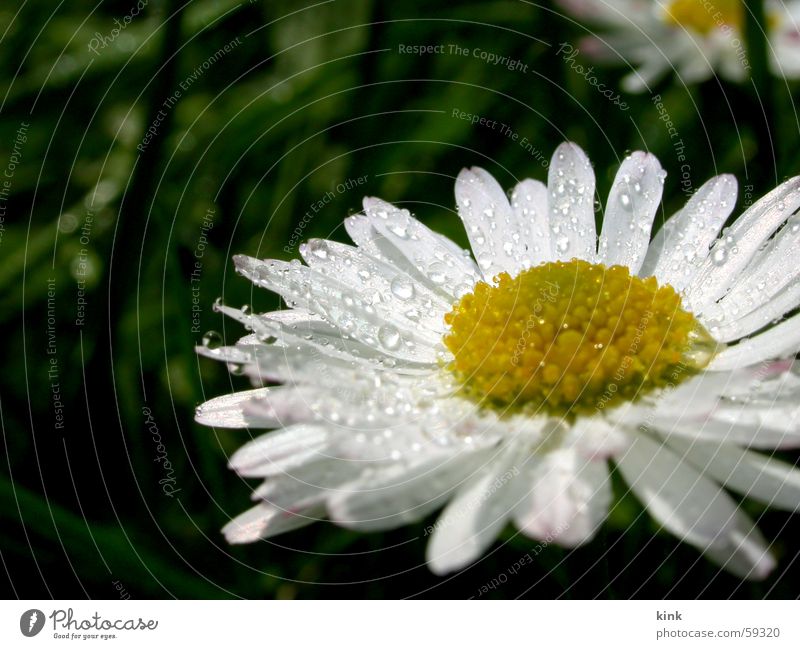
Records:
[[[553,259],[597,258],[594,224],[594,170],[572,142],[559,145],[547,172],[550,249]]]

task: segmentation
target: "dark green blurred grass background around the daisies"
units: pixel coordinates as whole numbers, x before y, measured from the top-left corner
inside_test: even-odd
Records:
[[[512,530],[450,579],[424,567],[423,525],[361,535],[321,523],[228,547],[219,529],[250,505],[253,485],[226,468],[248,432],[193,421],[203,400],[247,387],[193,351],[202,336],[192,332],[190,274],[208,209],[201,331],[232,342],[243,331],[212,311],[218,296],[257,310],[278,300],[232,273],[231,255],[296,256],[283,248],[327,191],[335,197],[304,238],[345,240],[342,218],[362,195],[377,195],[466,244],[452,191],[462,167],[484,166],[505,187],[546,177],[518,142],[455,119],[453,109],[508,124],[547,158],[564,139],[578,142],[603,199],[626,152],[652,151],[669,172],[667,215],[686,198],[681,163],[650,94],[623,95],[630,109],[622,111],[556,54],[587,30],[550,4],[151,0],[113,43],[89,51],[95,33],[108,37],[133,6],[37,0],[17,15],[16,3],[0,9],[0,167],[29,124],[0,240],[4,595],[116,598],[118,582],[133,598],[461,598],[493,579],[504,583],[486,596],[798,595],[800,519],[752,503],[780,561],[761,584],[720,573],[658,532],[630,497],[588,546],[546,548],[511,575],[535,546]],[[687,87],[669,77],[653,89],[686,145],[691,186],[734,173],[752,186],[740,204],[800,172],[797,85],[765,73],[755,23],[748,33],[753,81]],[[180,83],[237,37],[159,116]],[[401,44],[456,44],[469,54],[413,56]],[[475,48],[519,59],[527,72],[489,65]],[[628,71],[595,74],[616,89]],[[141,153],[154,120],[157,134]],[[335,191],[360,176],[361,187]],[[76,326],[81,248],[91,268]],[[49,278],[63,429],[47,374]],[[158,483],[165,474],[145,407],[173,466],[173,498]]]

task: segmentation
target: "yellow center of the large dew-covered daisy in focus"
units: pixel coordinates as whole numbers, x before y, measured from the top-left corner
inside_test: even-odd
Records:
[[[623,266],[549,262],[479,282],[445,316],[463,393],[504,414],[574,417],[677,385],[717,344],[681,298]]]

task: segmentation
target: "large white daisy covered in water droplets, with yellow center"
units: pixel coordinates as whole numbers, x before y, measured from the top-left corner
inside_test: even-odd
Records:
[[[289,308],[219,307],[252,333],[199,349],[280,384],[197,410],[211,426],[279,429],[230,460],[264,482],[227,539],[326,517],[383,530],[444,507],[428,560],[446,573],[509,523],[588,541],[613,466],[666,530],[767,575],[767,545],[726,489],[800,505],[800,471],[758,452],[800,445],[800,316],[773,324],[800,303],[800,177],[719,237],[737,189],[712,178],[651,242],[664,176],[654,156],[628,156],[598,238],[591,163],[565,143],[547,185],[523,180],[510,201],[483,169],[459,174],[476,261],[377,198],[345,221],[355,246],[309,241],[305,265],[235,257]]]

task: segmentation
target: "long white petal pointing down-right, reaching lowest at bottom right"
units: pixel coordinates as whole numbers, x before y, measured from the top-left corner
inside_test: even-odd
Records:
[[[752,521],[666,446],[640,435],[617,465],[652,516],[681,540],[740,576],[763,578],[774,566]]]

